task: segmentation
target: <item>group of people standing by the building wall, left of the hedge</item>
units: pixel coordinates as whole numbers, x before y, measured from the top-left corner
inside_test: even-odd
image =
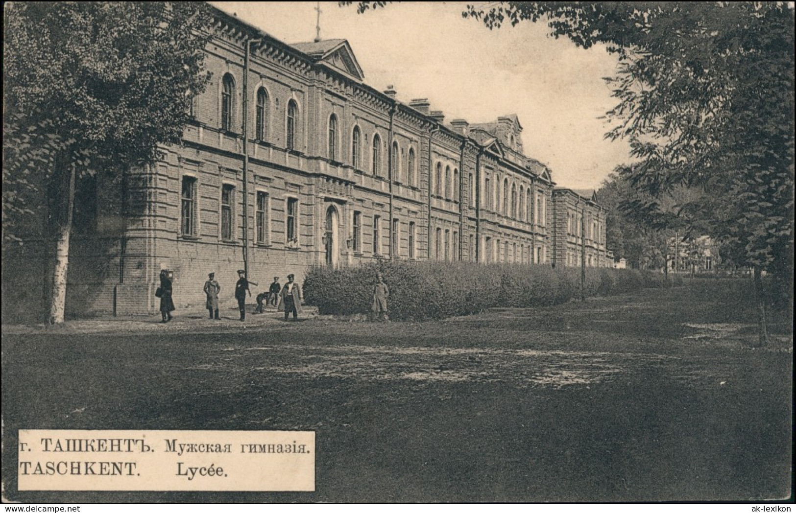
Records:
[[[243,269],[238,270],[238,281],[235,284],[235,299],[238,301],[238,309],[240,310],[240,321],[246,320],[246,297],[252,296],[249,286],[257,286],[256,282],[252,282],[246,278],[246,271]],[[218,295],[221,292],[221,286],[216,281],[216,274],[210,273],[207,282],[205,282],[205,308],[209,313],[210,319],[220,320],[218,314]],[[155,291],[155,296],[160,297],[160,313],[162,316],[161,322],[169,322],[172,320],[171,313],[174,312],[174,300],[172,299],[172,282],[168,270],[160,272],[160,286]],[[301,287],[295,282],[293,274],[287,275],[287,283],[284,286],[279,285],[279,277],[274,277],[274,282],[268,288],[268,292],[257,294],[257,312],[263,313],[267,301],[268,304],[284,309],[285,321],[287,321],[291,313],[293,320],[298,319],[298,312],[301,309],[302,292]]]

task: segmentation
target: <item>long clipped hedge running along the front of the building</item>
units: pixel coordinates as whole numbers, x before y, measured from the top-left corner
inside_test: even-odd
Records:
[[[390,289],[393,319],[428,319],[482,312],[492,307],[559,305],[580,295],[580,270],[573,267],[470,262],[373,262],[357,267],[311,269],[304,281],[305,301],[319,313],[367,313],[376,275]],[[587,296],[626,293],[645,287],[681,285],[654,271],[586,270]]]

